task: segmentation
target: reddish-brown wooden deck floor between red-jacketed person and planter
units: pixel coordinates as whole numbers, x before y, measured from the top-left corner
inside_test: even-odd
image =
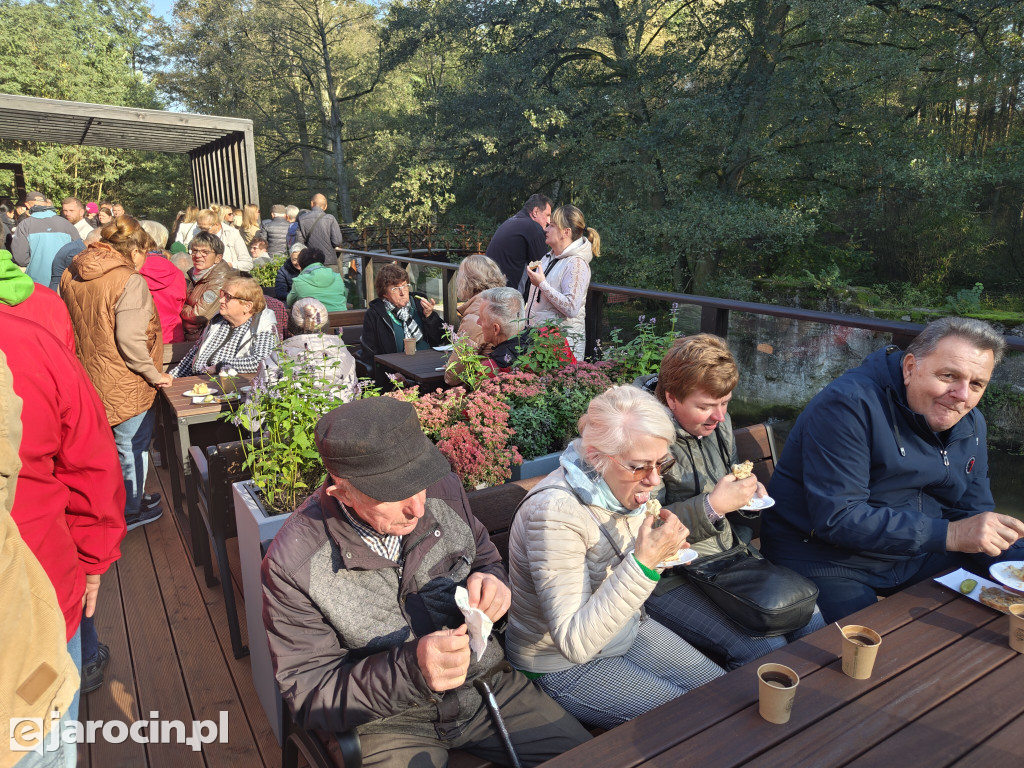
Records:
[[[151,465],[152,466],[152,465]],[[206,587],[193,567],[187,527],[170,509],[169,475],[151,468],[147,490],[164,497],[164,515],[129,531],[121,559],[103,577],[96,630],[111,648],[101,688],[83,697],[79,721],[194,720],[218,722],[225,712],[226,743],[80,745],[86,768],[223,768],[279,766],[281,748],[252,685],[249,658],[236,659],[219,586]],[[238,548],[228,542],[243,640],[246,638]],[[154,715],[153,713],[157,713]]]

